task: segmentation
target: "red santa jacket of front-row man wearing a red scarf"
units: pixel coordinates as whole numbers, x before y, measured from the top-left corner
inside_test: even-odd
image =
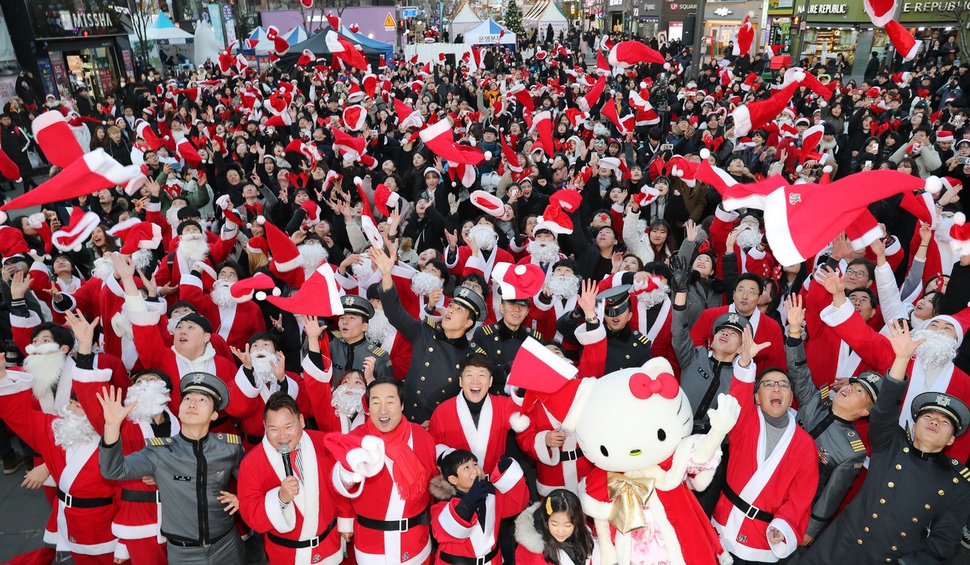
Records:
[[[399,426],[408,426],[411,437],[408,445],[418,460],[428,470],[429,475],[438,474],[435,465],[434,439],[424,428],[401,420]],[[367,426],[360,426],[348,435],[362,439],[368,434]],[[404,520],[427,512],[431,496],[425,492],[414,500],[405,500],[398,493],[389,465],[393,461],[385,457],[384,466],[373,477],[354,485],[344,485],[339,473],[333,474],[337,492],[350,499],[351,514],[341,516],[338,525],[341,532],[354,533],[354,553],[359,565],[421,565],[431,560],[431,540],[429,528],[417,525],[405,532],[384,532],[364,527],[354,516],[372,520]]]

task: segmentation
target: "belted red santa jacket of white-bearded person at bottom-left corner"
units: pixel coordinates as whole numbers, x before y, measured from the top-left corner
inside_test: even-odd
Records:
[[[7,371],[7,378],[0,381],[0,417],[40,453],[58,490],[79,499],[112,498],[116,485],[101,476],[97,438],[67,450],[56,445],[51,428],[56,418],[31,407],[32,381],[27,373]],[[95,508],[69,508],[58,501],[44,541],[56,545],[60,551],[110,555],[117,544],[117,538],[111,533],[111,522],[117,511],[113,503]]]

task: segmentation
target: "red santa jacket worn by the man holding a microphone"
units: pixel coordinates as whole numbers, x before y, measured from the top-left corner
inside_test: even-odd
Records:
[[[280,484],[286,478],[283,457],[265,438],[239,464],[239,513],[257,532],[292,541],[312,540],[326,532],[315,547],[292,549],[266,537],[269,562],[322,563],[337,565],[343,560],[337,531],[338,504],[346,504],[333,490],[333,458],[323,445],[324,434],[304,430],[300,437],[300,492],[290,504],[280,505]]]

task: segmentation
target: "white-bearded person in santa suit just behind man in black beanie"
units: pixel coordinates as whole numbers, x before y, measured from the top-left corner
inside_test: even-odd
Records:
[[[221,265],[208,293],[202,290],[203,270],[201,264],[195,263],[190,273],[182,275],[181,299],[195,306],[196,312],[212,323],[230,347],[244,349],[253,333],[266,331],[266,321],[255,302],[232,294],[232,286],[240,280],[241,267],[233,262]]]

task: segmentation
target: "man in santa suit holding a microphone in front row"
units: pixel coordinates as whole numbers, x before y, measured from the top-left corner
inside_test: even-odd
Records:
[[[265,536],[274,565],[339,564],[338,497],[324,433],[305,429],[300,406],[284,392],[266,400],[262,419],[266,437],[239,465],[240,515]]]

